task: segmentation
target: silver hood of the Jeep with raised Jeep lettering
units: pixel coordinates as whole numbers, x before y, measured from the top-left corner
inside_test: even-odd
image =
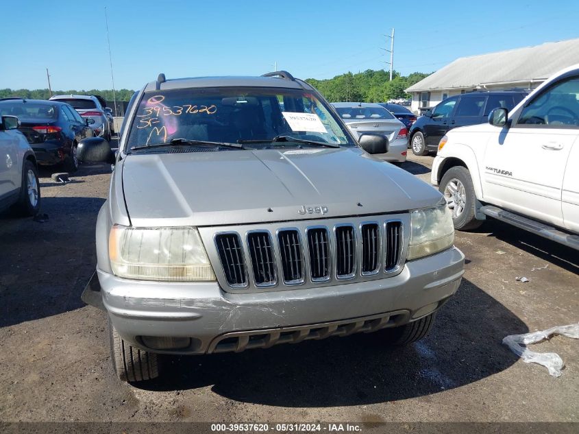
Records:
[[[441,197],[410,173],[358,148],[130,154],[119,166],[133,226],[390,213],[432,206]],[[312,213],[298,213],[302,206]],[[316,213],[317,207],[327,212]]]

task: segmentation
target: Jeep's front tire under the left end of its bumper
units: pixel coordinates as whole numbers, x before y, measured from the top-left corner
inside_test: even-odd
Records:
[[[107,320],[110,358],[116,376],[127,383],[147,381],[159,376],[157,354],[131,346],[116,332],[110,318]]]

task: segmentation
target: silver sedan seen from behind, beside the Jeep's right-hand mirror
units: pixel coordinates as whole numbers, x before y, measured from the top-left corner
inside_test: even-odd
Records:
[[[375,157],[389,162],[406,161],[408,130],[391,112],[379,104],[367,102],[334,102],[332,106],[356,138],[364,133],[383,134],[388,138],[388,152]]]

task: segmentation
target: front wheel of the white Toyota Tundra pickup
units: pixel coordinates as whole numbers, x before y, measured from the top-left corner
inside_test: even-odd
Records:
[[[476,195],[469,169],[451,167],[443,176],[439,191],[443,193],[452,211],[452,222],[457,230],[476,229],[482,220],[476,219]]]

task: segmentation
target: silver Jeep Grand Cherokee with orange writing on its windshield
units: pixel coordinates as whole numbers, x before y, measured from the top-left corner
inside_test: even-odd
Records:
[[[83,300],[106,310],[116,374],[378,331],[424,337],[463,275],[441,194],[371,154],[285,71],[147,84],[121,130]],[[361,148],[360,148],[361,147]],[[79,159],[106,161],[101,138]]]

